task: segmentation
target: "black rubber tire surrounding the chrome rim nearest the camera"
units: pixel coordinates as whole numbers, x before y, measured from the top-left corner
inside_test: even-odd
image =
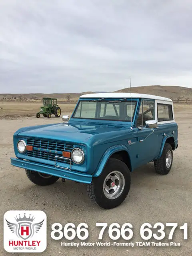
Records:
[[[121,189],[118,197],[110,199],[104,193],[104,182],[112,172],[118,172],[124,178],[124,188]],[[130,171],[124,162],[110,158],[100,176],[93,178],[91,184],[87,184],[87,193],[92,201],[104,209],[111,209],[119,206],[126,198],[130,190]],[[108,182],[109,180],[107,180]],[[107,183],[106,182],[106,183]],[[112,180],[110,180],[112,182]],[[112,184],[112,183],[111,183]],[[116,180],[115,180],[116,184]],[[111,188],[110,190],[114,190]],[[110,194],[110,193],[109,193]]]

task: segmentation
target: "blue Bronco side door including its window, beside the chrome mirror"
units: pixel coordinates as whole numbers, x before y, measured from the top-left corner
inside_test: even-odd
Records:
[[[154,132],[146,128],[145,122],[148,120],[155,120],[155,100],[143,99],[136,122],[138,161],[142,164],[154,160],[158,151],[157,128],[153,129]]]

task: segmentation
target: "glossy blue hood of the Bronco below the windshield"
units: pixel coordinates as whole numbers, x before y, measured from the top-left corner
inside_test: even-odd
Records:
[[[23,137],[48,138],[68,142],[95,144],[118,140],[123,130],[131,131],[130,126],[120,124],[95,123],[60,123],[44,126],[32,126],[18,130],[17,134]]]

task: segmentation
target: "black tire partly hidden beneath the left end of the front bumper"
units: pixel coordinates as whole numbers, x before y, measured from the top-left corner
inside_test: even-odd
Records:
[[[25,170],[27,177],[30,181],[38,186],[48,186],[54,184],[59,177],[44,174],[42,172],[34,172],[31,170]]]

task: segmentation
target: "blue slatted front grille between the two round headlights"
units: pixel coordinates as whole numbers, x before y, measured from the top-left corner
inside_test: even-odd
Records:
[[[55,161],[55,156],[62,157],[62,151],[72,151],[73,144],[58,140],[46,140],[38,138],[26,138],[26,144],[33,146],[32,151],[27,151],[27,156]],[[70,160],[57,158],[57,162],[70,164]],[[71,164],[73,162],[71,161]]]

